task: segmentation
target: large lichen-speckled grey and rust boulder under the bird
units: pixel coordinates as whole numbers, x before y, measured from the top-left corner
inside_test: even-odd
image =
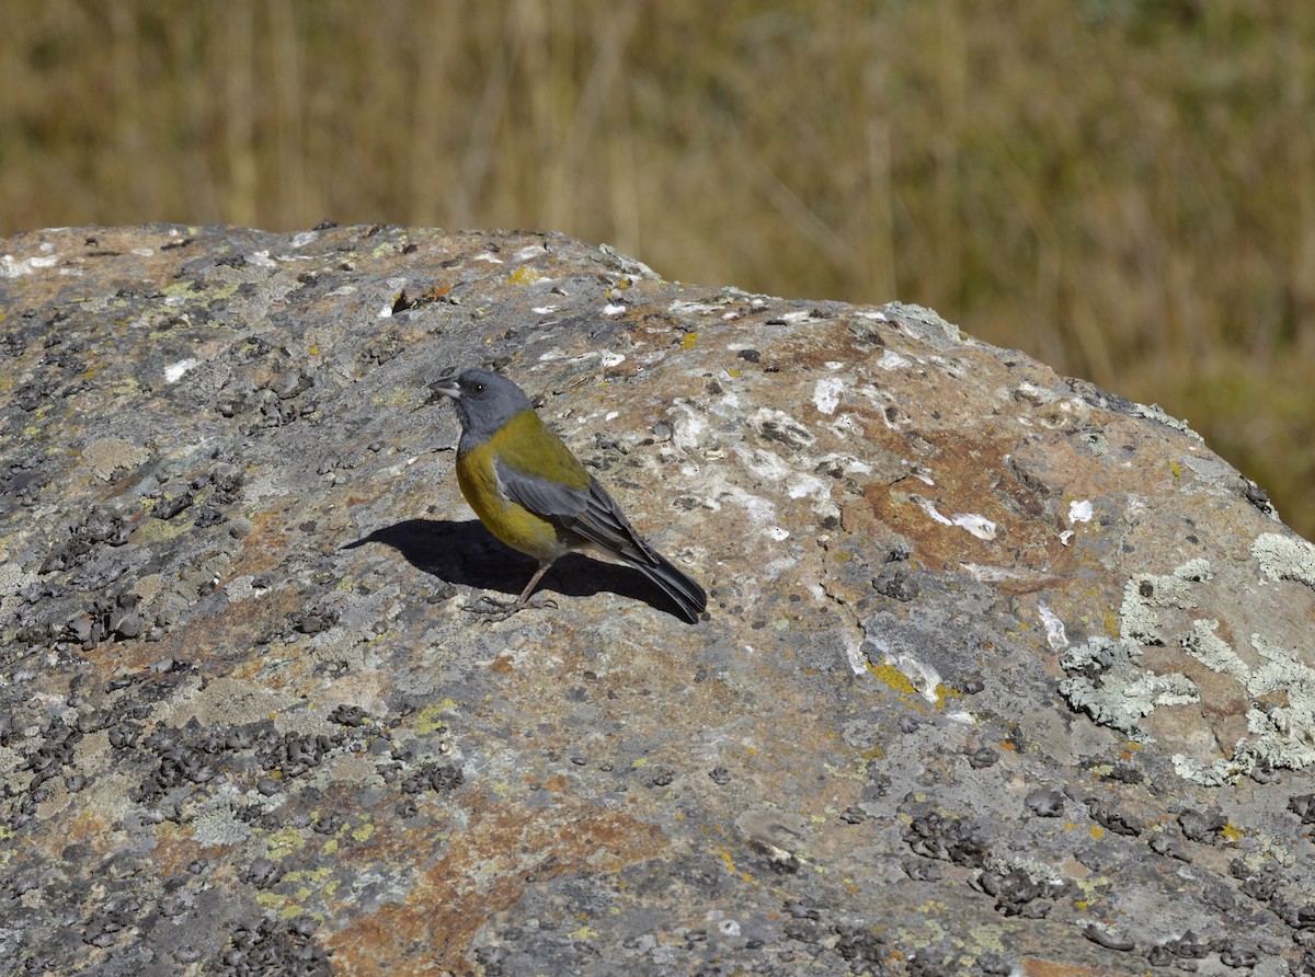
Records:
[[[0,972],[1315,973],[1315,547],[914,306],[527,233],[0,241]],[[707,588],[496,543],[493,364]]]

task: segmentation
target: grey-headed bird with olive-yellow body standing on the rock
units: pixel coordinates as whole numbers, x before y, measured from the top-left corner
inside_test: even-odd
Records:
[[[489,618],[504,619],[525,608],[559,558],[583,551],[634,567],[661,588],[681,617],[698,623],[707,608],[704,588],[635,531],[514,381],[472,368],[429,389],[426,404],[446,397],[456,409],[462,426],[456,481],[466,501],[489,533],[539,561],[521,596],[487,611]]]

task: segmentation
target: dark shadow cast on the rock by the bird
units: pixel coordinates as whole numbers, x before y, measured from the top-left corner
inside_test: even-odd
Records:
[[[479,519],[404,519],[341,548],[355,550],[366,543],[391,546],[417,569],[450,584],[512,597],[521,593],[538,568],[535,560],[502,544]],[[543,590],[565,597],[590,597],[606,590],[680,617],[667,594],[639,571],[583,554],[567,554],[554,563],[535,588],[535,593]]]

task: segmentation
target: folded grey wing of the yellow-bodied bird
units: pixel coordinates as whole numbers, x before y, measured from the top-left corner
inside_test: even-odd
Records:
[[[635,563],[651,563],[652,548],[635,533],[608,490],[593,477],[586,488],[572,488],[493,463],[506,497],[556,526]]]

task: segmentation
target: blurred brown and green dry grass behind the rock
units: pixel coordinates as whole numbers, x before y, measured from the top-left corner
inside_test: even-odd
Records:
[[[930,305],[1315,533],[1315,4],[5,0],[0,235],[326,218]]]

